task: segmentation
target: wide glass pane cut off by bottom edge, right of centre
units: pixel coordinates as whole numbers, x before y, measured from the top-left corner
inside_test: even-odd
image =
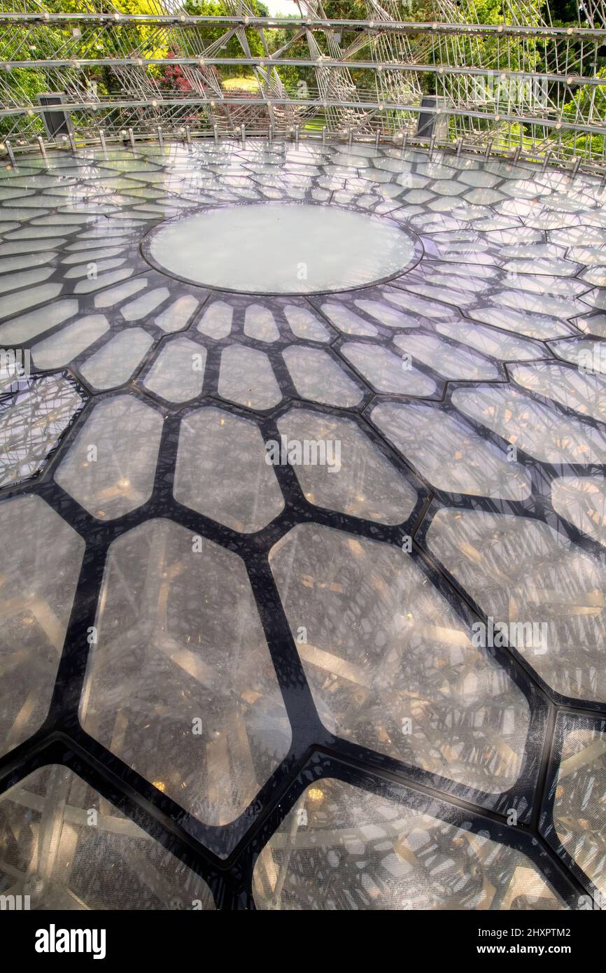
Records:
[[[427,813],[378,786],[330,777],[310,784],[255,864],[257,909],[558,910],[565,904],[534,862]],[[432,809],[433,810],[433,809]]]

